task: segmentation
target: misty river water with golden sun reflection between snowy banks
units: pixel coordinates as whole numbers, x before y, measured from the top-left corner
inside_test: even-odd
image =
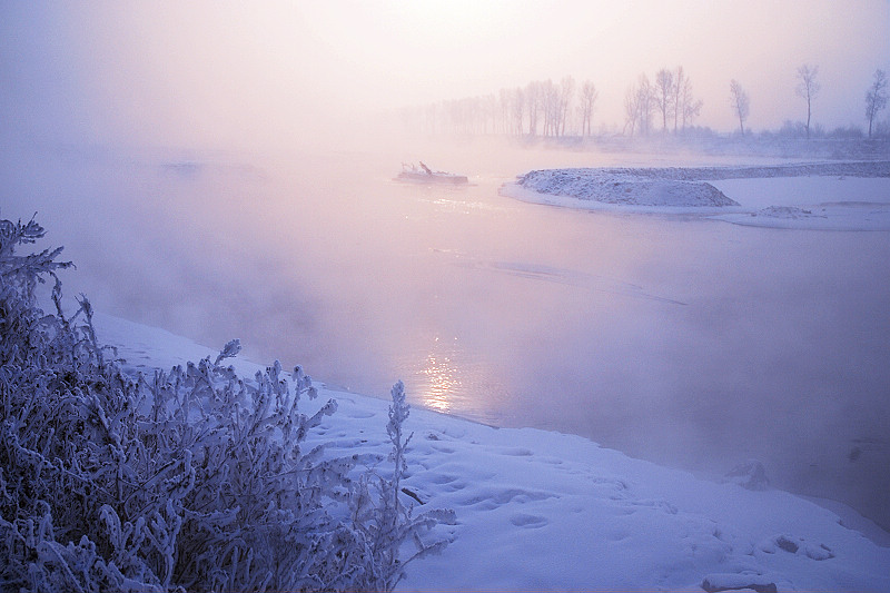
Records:
[[[0,215],[38,211],[78,266],[66,293],[100,310],[706,474],[756,458],[890,526],[889,233],[497,194],[532,168],[665,164],[644,157],[471,147],[421,155],[469,187],[393,181],[413,157],[17,149]]]

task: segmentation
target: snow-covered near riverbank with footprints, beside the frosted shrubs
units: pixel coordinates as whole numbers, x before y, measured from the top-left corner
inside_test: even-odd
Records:
[[[107,315],[96,322],[131,370],[217,354]],[[260,369],[233,364],[247,377]],[[316,385],[320,397],[301,402],[304,412],[330,397],[338,412],[312,438],[330,442],[334,455],[388,453],[387,401]],[[436,527],[451,545],[409,564],[399,590],[890,591],[890,547],[787,492],[696,478],[578,436],[416,407],[406,428],[414,436],[404,486],[424,502],[418,511],[453,508],[457,524]],[[416,504],[407,495],[405,503]]]

